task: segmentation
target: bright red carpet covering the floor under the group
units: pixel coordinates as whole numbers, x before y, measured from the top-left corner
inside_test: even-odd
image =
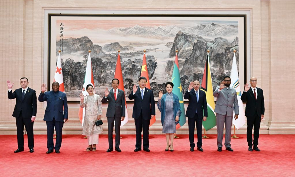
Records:
[[[46,154],[46,135],[35,135],[35,153],[17,149],[16,135],[0,135],[1,177],[6,176],[295,176],[295,135],[260,135],[261,152],[249,152],[246,135],[232,139],[229,152],[217,151],[217,135],[203,140],[204,152],[189,151],[188,135],[178,135],[174,152],[165,152],[165,135],[150,135],[150,150],[134,152],[135,135],[122,135],[121,153],[99,135],[97,151],[86,152],[82,135],[63,135],[60,154]],[[196,139],[195,139],[196,141]]]

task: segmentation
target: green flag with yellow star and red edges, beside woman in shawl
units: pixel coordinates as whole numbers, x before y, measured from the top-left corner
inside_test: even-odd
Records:
[[[175,55],[175,62],[174,62],[174,68],[173,68],[171,82],[174,84],[172,93],[176,94],[178,96],[180,108],[181,108],[181,115],[179,117],[179,123],[176,125],[176,129],[178,129],[186,123],[186,117],[185,117],[184,104],[183,104],[183,94],[182,94],[182,87],[181,87],[181,82],[180,82],[177,53]]]

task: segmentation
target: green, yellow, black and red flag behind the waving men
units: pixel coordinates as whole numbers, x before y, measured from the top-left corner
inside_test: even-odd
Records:
[[[206,99],[207,99],[208,117],[206,121],[203,121],[203,126],[205,130],[207,131],[212,129],[216,125],[216,115],[214,113],[215,103],[214,103],[214,96],[213,96],[209,53],[207,54],[207,60],[205,64],[201,90],[206,93]]]

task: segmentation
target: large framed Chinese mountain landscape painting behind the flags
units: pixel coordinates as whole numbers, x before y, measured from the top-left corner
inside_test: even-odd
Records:
[[[190,81],[202,81],[207,50],[210,50],[215,87],[224,76],[230,76],[233,50],[237,51],[240,78],[244,75],[240,71],[245,64],[243,25],[242,17],[52,16],[50,81],[58,50],[62,50],[65,93],[68,97],[78,97],[83,88],[88,50],[91,50],[95,91],[103,96],[114,78],[120,50],[127,96],[141,74],[143,50],[146,50],[150,86],[158,97],[158,90],[171,81],[176,50],[183,91]]]

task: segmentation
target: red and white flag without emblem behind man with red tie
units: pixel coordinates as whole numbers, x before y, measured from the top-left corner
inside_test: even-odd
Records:
[[[124,82],[123,82],[123,75],[122,75],[122,68],[121,68],[121,61],[120,61],[120,53],[118,53],[117,65],[114,78],[119,79],[119,86],[118,89],[124,91],[125,97],[125,90],[124,90]],[[128,122],[128,112],[127,112],[127,104],[125,99],[125,119],[121,122],[121,127]]]

